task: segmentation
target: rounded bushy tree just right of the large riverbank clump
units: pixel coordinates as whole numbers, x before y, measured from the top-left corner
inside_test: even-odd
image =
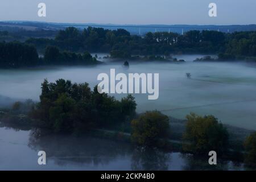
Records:
[[[131,121],[134,143],[141,146],[155,146],[159,139],[168,137],[170,123],[167,115],[159,111],[147,111]]]

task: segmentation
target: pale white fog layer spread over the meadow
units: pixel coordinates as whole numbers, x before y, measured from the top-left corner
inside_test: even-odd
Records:
[[[51,67],[37,69],[1,69],[0,96],[13,100],[31,98],[38,101],[44,78],[64,78],[73,82],[98,84],[99,73],[159,73],[159,98],[148,100],[148,94],[134,94],[138,113],[160,110],[176,118],[185,115],[213,114],[226,123],[245,129],[256,129],[256,69],[238,63],[193,63],[198,55],[178,56],[187,63],[106,63],[95,67]],[[123,60],[125,61],[125,60]],[[191,73],[191,79],[185,73]],[[119,99],[126,95],[115,94]],[[0,97],[0,98],[1,98]],[[3,104],[5,100],[0,99]]]

